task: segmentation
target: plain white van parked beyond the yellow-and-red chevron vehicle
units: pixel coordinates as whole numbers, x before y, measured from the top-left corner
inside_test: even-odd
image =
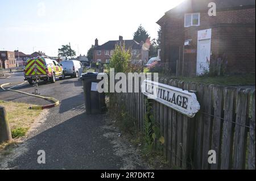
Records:
[[[79,69],[83,68],[80,61],[77,60],[64,60],[61,62],[64,75],[71,77],[79,77]]]

